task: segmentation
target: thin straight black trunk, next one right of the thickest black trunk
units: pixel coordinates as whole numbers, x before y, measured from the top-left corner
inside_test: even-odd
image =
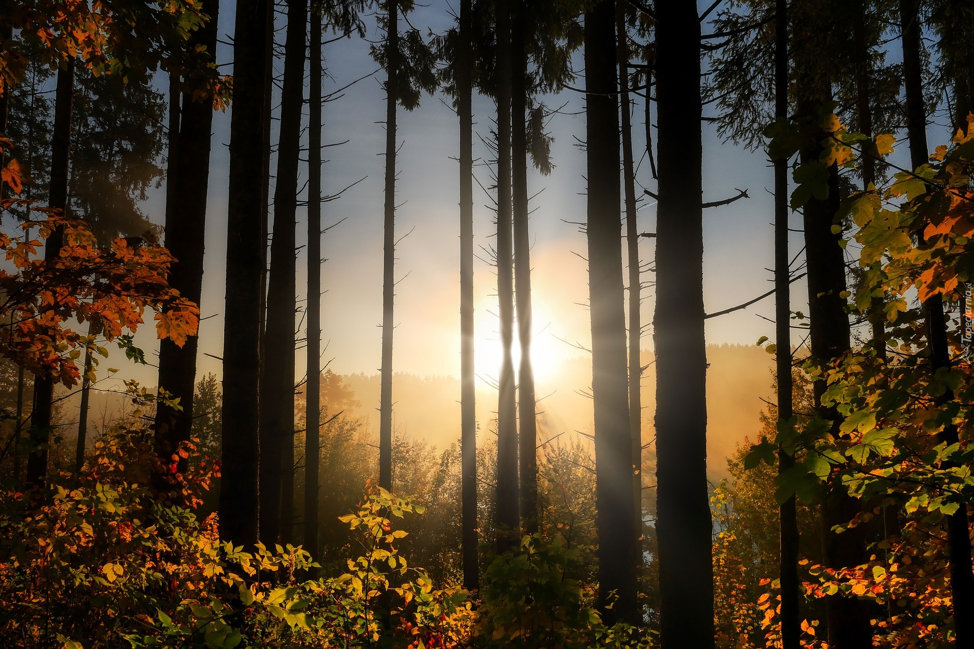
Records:
[[[774,117],[788,119],[788,0],[774,6]],[[778,422],[794,415],[791,349],[791,269],[788,252],[788,161],[774,161],[774,338]],[[795,458],[778,448],[778,474],[795,466]],[[781,583],[781,647],[799,649],[802,582],[798,575],[799,532],[796,499],[778,508],[778,573]]]

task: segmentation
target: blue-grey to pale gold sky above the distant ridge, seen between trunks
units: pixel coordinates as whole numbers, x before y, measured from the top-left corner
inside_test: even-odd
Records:
[[[443,0],[417,9],[410,21],[424,34],[442,31],[450,24],[450,9]],[[232,61],[228,46],[233,35],[234,8],[221,7],[220,40],[217,58]],[[278,40],[282,45],[283,17],[278,17]],[[367,38],[375,39],[374,20],[368,19]],[[339,89],[376,70],[368,55],[368,42],[357,37],[325,46],[328,78],[324,91]],[[581,70],[581,55],[577,57]],[[279,56],[276,69],[281,72]],[[231,65],[223,70],[230,72]],[[325,143],[344,142],[325,149],[322,169],[323,192],[334,194],[364,178],[341,198],[327,202],[322,210],[324,225],[342,221],[322,237],[322,339],[328,343],[322,363],[339,373],[377,372],[380,364],[382,309],[382,219],[385,158],[385,101],[378,72],[341,96],[325,104],[322,119]],[[576,86],[583,84],[581,77]],[[554,136],[552,157],[555,169],[550,176],[529,174],[532,201],[532,306],[535,344],[533,360],[539,379],[558,373],[559,364],[579,355],[568,343],[588,346],[587,275],[581,258],[585,238],[575,223],[585,220],[585,157],[579,147],[584,136],[584,108],[580,93],[564,90],[546,97],[552,107],[565,106],[553,115],[549,129]],[[277,99],[276,99],[277,102]],[[566,103],[567,102],[567,103]],[[637,151],[645,150],[645,119],[642,98],[637,98],[633,115],[633,140]],[[479,185],[489,187],[489,169],[483,164],[488,155],[479,138],[489,138],[494,113],[493,101],[474,99],[474,159]],[[581,114],[580,114],[581,113]],[[307,110],[306,110],[307,114]],[[400,110],[396,185],[396,234],[405,235],[396,251],[395,276],[399,283],[395,295],[395,343],[393,368],[419,376],[457,376],[460,368],[459,337],[459,213],[458,155],[459,126],[456,115],[441,94],[425,96],[413,112]],[[277,124],[275,125],[277,127]],[[225,297],[224,260],[226,251],[227,171],[230,112],[217,113],[210,161],[208,213],[206,223],[206,271],[201,312],[200,372],[220,374],[222,355],[222,309]],[[771,175],[761,153],[747,152],[722,144],[704,125],[704,200],[729,198],[735,188],[748,189],[751,198],[721,208],[705,210],[704,215],[704,297],[708,311],[719,310],[749,300],[768,290],[770,273],[771,197],[766,192]],[[276,133],[274,135],[276,139]],[[274,162],[272,162],[273,167]],[[639,168],[639,180],[652,187],[649,165]],[[302,166],[300,185],[307,179]],[[497,335],[496,276],[487,263],[487,249],[494,240],[492,198],[475,187],[474,245],[478,259],[474,267],[476,308],[476,365],[481,376],[496,377],[500,358]],[[273,192],[272,192],[273,195]],[[147,211],[161,220],[163,203],[155,199]],[[653,232],[655,205],[641,201],[638,223],[641,232]],[[273,215],[272,215],[273,218]],[[299,208],[298,245],[307,241],[305,211]],[[344,219],[344,221],[343,221]],[[575,223],[573,223],[575,222]],[[273,231],[273,225],[272,225]],[[652,260],[653,241],[642,239],[643,262]],[[299,295],[305,297],[307,260],[298,253]],[[651,281],[652,273],[644,280]],[[643,303],[644,322],[653,313],[652,289]],[[801,290],[796,286],[796,293]],[[770,333],[771,325],[758,317],[770,314],[771,301],[708,321],[711,343],[754,343]],[[207,317],[208,316],[208,317]],[[300,317],[300,316],[299,316]],[[299,321],[300,324],[300,321]],[[300,324],[303,335],[303,324]],[[149,336],[139,337],[151,346]],[[559,340],[562,339],[562,340]],[[652,348],[650,335],[643,347]],[[214,358],[217,357],[217,358]],[[147,369],[148,370],[148,369]],[[298,377],[305,373],[302,354],[298,354]],[[152,382],[150,377],[143,380]]]

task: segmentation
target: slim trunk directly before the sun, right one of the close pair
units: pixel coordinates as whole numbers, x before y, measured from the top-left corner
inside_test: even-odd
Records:
[[[535,373],[531,363],[531,234],[528,227],[527,97],[528,56],[524,30],[527,4],[515,0],[511,29],[510,150],[513,197],[514,294],[521,367],[517,375],[518,460],[521,527],[538,531],[538,422],[535,415]]]

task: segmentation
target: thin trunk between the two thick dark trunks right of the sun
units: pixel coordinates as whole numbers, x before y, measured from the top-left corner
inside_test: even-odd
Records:
[[[625,29],[625,5],[616,6],[618,40],[619,104],[622,118],[622,187],[625,191],[625,244],[629,263],[629,435],[632,438],[632,503],[635,508],[636,547],[643,535],[643,364],[639,357],[642,341],[642,275],[639,271],[639,227],[636,223],[636,172],[632,161],[632,103],[629,100],[629,43]],[[650,87],[647,84],[646,102]],[[649,120],[649,116],[647,116]],[[650,146],[647,143],[647,146]],[[642,559],[638,559],[641,561]]]

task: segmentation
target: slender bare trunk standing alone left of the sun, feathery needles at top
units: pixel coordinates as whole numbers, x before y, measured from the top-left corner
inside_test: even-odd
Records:
[[[386,47],[386,204],[382,255],[382,369],[379,392],[379,486],[393,488],[393,303],[395,300],[395,103],[399,75],[399,7],[389,4]]]

